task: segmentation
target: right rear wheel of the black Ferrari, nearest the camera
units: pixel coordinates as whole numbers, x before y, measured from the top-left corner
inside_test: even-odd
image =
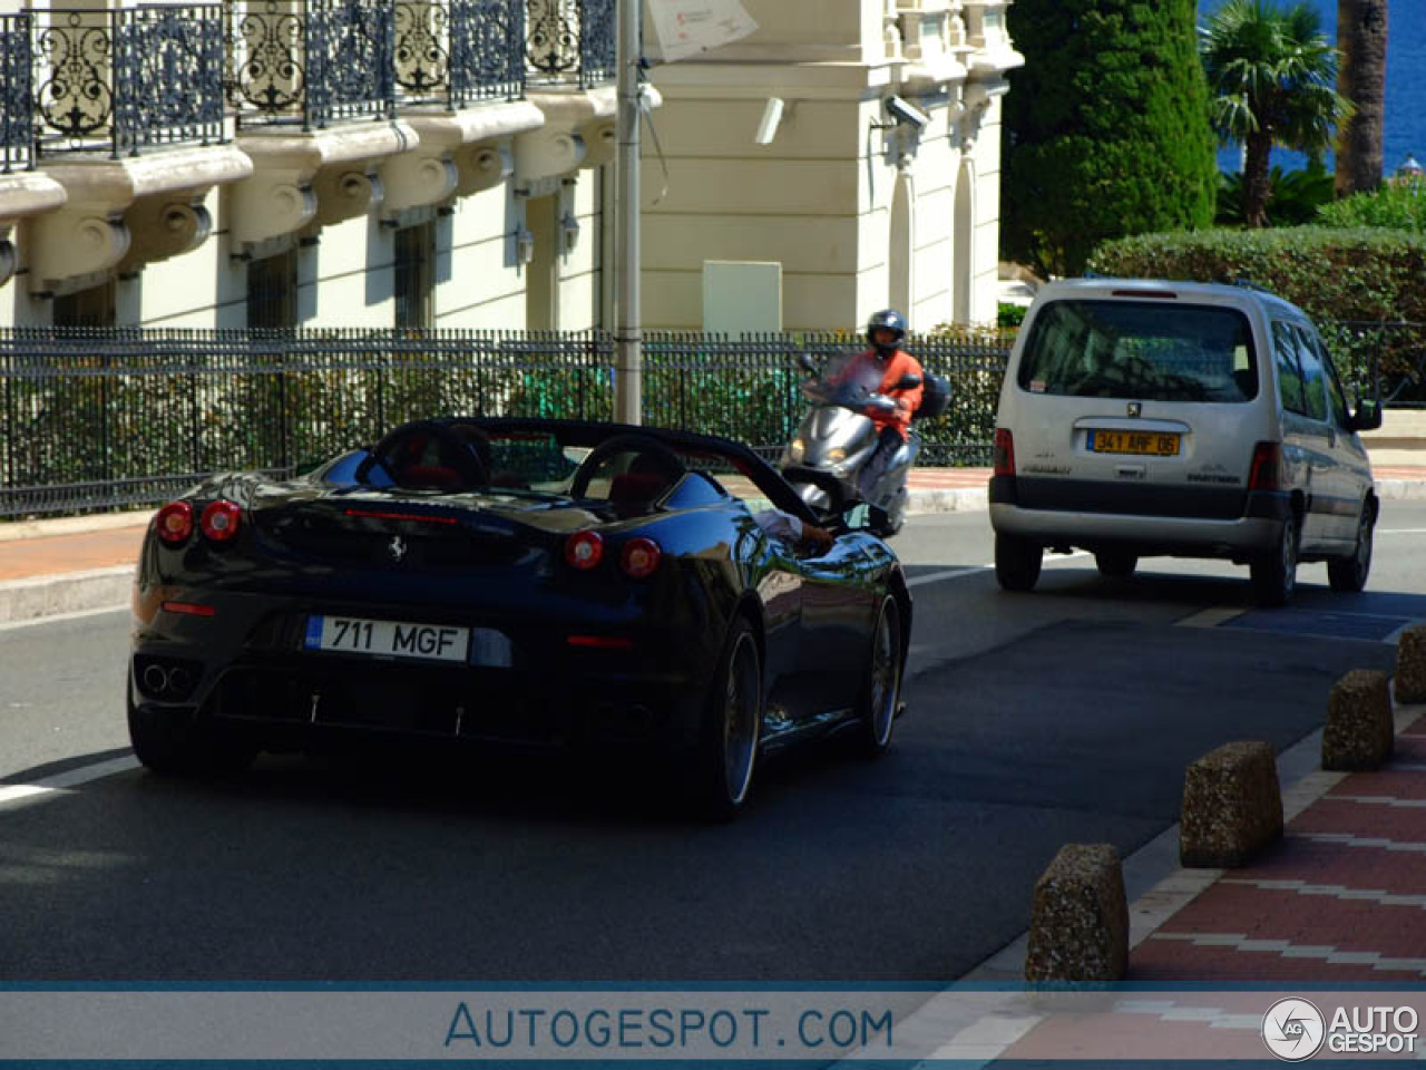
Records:
[[[733,820],[747,803],[763,730],[763,671],[753,629],[733,621],[709,689],[694,758],[693,802],[712,820]]]

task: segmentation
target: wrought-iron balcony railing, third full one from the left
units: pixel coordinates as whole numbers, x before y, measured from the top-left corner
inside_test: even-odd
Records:
[[[525,0],[396,0],[396,87],[451,110],[525,93]]]

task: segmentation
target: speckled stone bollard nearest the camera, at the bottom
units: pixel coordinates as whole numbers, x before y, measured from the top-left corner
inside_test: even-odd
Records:
[[[1117,982],[1129,969],[1129,905],[1119,853],[1068,843],[1035,882],[1028,982]]]

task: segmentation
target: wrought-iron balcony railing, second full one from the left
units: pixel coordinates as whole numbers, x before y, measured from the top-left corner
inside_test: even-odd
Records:
[[[396,107],[392,0],[228,0],[238,126],[324,128]]]

